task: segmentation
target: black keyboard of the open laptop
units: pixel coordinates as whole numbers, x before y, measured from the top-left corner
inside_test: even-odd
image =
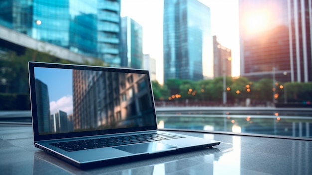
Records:
[[[57,143],[51,143],[50,145],[53,145],[57,148],[70,152],[70,151],[87,150],[87,149],[93,149],[93,148],[112,147],[112,146],[136,144],[136,143],[143,143],[143,142],[177,139],[177,138],[182,138],[182,137],[171,135],[171,134],[164,134],[164,133],[152,133],[152,134],[139,134],[139,135],[130,135],[130,136],[86,139],[86,140],[69,141],[69,142],[57,142]]]

